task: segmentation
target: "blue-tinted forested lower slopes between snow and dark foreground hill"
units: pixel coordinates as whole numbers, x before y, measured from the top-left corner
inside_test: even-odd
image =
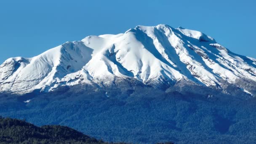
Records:
[[[38,126],[66,125],[108,142],[253,143],[256,98],[240,99],[195,87],[160,91],[99,89],[86,85],[24,96],[0,94],[0,115]],[[107,96],[106,96],[107,92]],[[24,102],[31,99],[29,102]],[[232,99],[232,100],[231,100]]]

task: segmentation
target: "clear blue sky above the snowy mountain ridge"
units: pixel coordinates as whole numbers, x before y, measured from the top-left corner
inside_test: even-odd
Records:
[[[88,35],[157,24],[199,30],[256,58],[255,0],[1,0],[0,63]]]

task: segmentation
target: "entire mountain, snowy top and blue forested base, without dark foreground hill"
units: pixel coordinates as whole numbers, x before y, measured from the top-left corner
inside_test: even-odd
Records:
[[[88,36],[0,66],[0,115],[104,141],[256,141],[256,59],[182,27]]]

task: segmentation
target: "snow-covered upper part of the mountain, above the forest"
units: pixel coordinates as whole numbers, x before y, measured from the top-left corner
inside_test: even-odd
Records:
[[[63,85],[112,85],[134,79],[145,85],[187,80],[256,94],[256,59],[232,53],[212,37],[182,27],[137,26],[118,35],[88,36],[33,58],[10,58],[0,66],[0,92],[53,91]]]

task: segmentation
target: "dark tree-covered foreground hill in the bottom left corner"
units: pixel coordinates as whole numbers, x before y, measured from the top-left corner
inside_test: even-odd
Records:
[[[105,144],[72,128],[60,125],[37,127],[24,120],[0,117],[0,143],[2,144]]]

